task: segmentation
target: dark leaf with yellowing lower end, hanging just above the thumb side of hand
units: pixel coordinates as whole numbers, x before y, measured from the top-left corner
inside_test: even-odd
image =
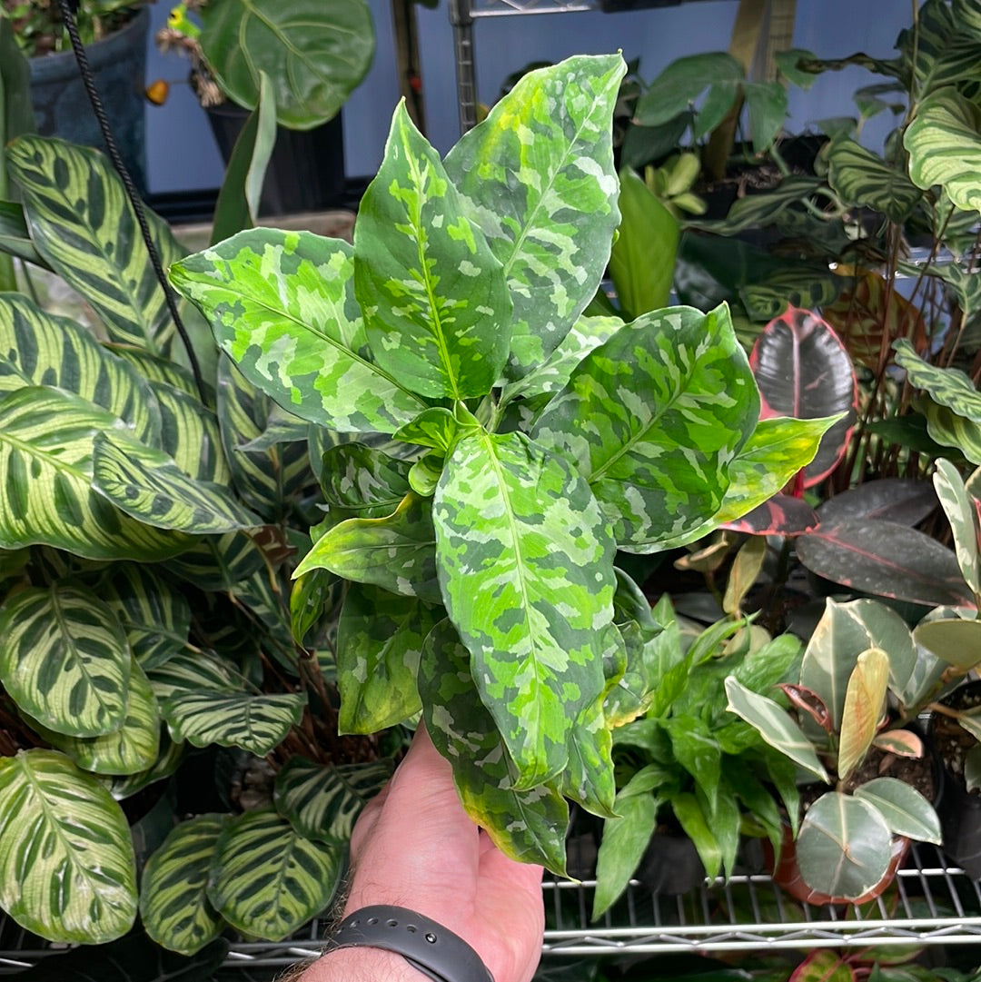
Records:
[[[343,734],[403,723],[421,706],[415,672],[426,634],[443,617],[415,597],[351,583],[337,627]]]

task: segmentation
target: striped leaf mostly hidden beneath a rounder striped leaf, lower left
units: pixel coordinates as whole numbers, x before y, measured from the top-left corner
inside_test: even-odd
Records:
[[[103,736],[64,736],[42,727],[38,733],[94,774],[140,774],[160,751],[160,712],[150,683],[136,661],[130,672],[123,725]]]

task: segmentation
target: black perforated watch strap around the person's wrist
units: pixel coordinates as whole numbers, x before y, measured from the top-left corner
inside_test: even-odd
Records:
[[[339,948],[396,952],[435,982],[494,982],[463,938],[406,907],[378,904],[355,910],[328,939],[324,955]]]

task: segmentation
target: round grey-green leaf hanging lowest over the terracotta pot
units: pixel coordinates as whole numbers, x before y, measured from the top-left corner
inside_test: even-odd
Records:
[[[857,900],[885,875],[891,845],[889,826],[877,808],[850,794],[828,791],[807,809],[796,855],[811,890]]]

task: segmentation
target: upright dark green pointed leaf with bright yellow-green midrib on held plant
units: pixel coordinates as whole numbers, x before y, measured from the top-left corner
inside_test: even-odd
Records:
[[[504,268],[405,102],[358,207],[354,293],[375,361],[412,392],[490,392],[511,341]]]

